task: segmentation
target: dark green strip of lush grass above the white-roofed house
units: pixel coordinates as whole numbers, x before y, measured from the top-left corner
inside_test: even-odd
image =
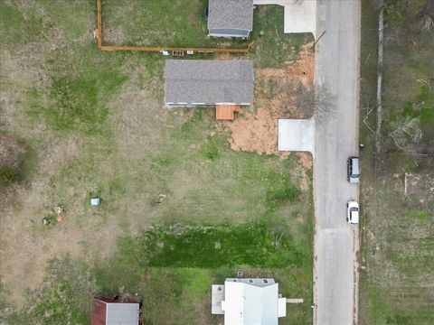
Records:
[[[145,232],[137,237],[134,246],[125,239],[119,245],[132,256],[146,258],[148,265],[159,267],[302,267],[307,263],[309,257],[293,245],[289,233],[282,237],[278,247],[273,245],[274,236],[269,224],[263,221],[208,228],[175,225]]]

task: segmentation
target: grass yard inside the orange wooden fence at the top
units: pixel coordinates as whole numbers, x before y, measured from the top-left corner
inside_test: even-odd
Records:
[[[248,41],[208,37],[203,0],[103,1],[104,43],[196,48],[245,48]]]

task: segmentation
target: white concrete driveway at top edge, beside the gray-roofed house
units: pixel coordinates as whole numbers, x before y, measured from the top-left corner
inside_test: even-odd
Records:
[[[254,0],[254,5],[285,7],[284,32],[312,32],[316,38],[316,0]]]

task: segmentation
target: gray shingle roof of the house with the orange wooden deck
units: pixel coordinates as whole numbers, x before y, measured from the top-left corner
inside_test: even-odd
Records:
[[[165,103],[248,104],[251,60],[165,60]]]

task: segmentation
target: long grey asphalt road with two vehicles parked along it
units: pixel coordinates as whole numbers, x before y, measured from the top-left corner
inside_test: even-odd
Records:
[[[357,185],[346,181],[346,159],[358,153],[361,3],[319,0],[317,10],[316,35],[326,32],[316,44],[316,85],[337,98],[334,117],[316,123],[314,319],[347,325],[356,323],[358,300],[358,228],[345,217],[346,202],[358,200]]]

